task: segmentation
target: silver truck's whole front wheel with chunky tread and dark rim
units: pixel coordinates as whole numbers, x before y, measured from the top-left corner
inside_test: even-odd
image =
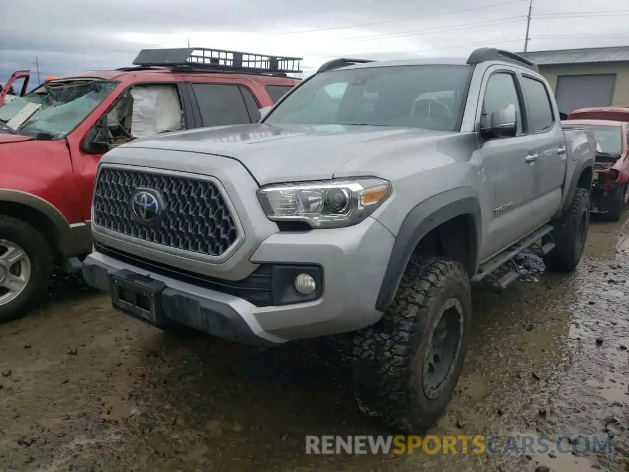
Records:
[[[413,256],[382,319],[355,337],[353,380],[361,410],[402,430],[428,429],[459,380],[471,318],[463,267]]]

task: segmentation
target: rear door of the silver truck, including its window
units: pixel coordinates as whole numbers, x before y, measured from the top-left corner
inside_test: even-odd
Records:
[[[555,115],[548,86],[537,77],[521,74],[526,101],[529,135],[535,137],[537,159],[533,181],[532,221],[548,222],[561,203],[567,164],[567,142],[561,121]]]

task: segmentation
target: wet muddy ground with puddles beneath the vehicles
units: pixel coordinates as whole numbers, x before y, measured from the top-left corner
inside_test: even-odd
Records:
[[[571,276],[520,262],[506,291],[474,292],[464,373],[430,433],[613,435],[611,454],[306,455],[306,434],[391,434],[357,412],[327,342],[166,335],[58,278],[0,326],[0,471],[629,471],[629,222],[593,222]]]

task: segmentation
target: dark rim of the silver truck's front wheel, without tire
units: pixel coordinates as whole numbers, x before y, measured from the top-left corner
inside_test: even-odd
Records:
[[[447,388],[457,366],[463,339],[463,306],[456,298],[443,303],[430,332],[421,385],[424,395],[434,400]]]

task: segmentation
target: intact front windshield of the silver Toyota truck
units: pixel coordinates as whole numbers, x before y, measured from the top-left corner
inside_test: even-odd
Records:
[[[398,65],[323,72],[308,79],[264,123],[460,129],[468,65]]]

